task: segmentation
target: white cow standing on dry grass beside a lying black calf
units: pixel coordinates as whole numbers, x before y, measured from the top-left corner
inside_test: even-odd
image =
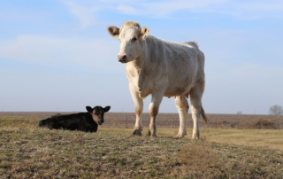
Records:
[[[187,98],[190,96],[194,121],[193,139],[200,137],[198,121],[203,110],[204,55],[197,43],[172,43],[149,35],[148,27],[126,21],[121,28],[107,27],[111,36],[119,38],[118,60],[126,63],[126,76],[134,100],[136,121],[133,135],[142,135],[142,98],[151,94],[149,133],[157,134],[157,113],[163,97],[174,97],[179,111],[177,137],[187,135]]]

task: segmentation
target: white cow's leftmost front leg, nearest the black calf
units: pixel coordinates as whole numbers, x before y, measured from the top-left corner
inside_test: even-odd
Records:
[[[139,93],[135,90],[133,85],[129,85],[130,92],[134,101],[134,108],[135,108],[135,124],[134,124],[134,131],[132,135],[142,136],[142,110],[143,110],[143,102],[142,98],[139,97]]]

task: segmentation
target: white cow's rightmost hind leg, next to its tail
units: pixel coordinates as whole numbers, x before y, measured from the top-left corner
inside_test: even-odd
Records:
[[[200,130],[198,127],[198,122],[200,116],[202,114],[202,97],[203,97],[203,90],[204,90],[204,82],[196,83],[195,87],[190,92],[190,99],[191,99],[191,112],[192,118],[194,121],[194,128],[193,128],[193,136],[192,139],[199,139],[200,137]]]

